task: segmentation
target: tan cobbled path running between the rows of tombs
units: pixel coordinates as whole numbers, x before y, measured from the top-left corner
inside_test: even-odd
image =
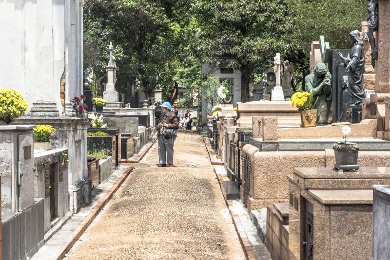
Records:
[[[245,259],[199,134],[179,132],[174,164],[157,143],[66,259]]]

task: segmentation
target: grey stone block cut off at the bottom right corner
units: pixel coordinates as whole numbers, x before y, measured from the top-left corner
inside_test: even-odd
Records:
[[[390,186],[374,185],[372,259],[388,259],[390,248]]]

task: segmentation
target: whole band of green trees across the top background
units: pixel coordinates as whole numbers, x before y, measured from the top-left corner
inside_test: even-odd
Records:
[[[366,0],[84,0],[84,69],[105,76],[108,43],[117,60],[117,91],[129,74],[149,97],[174,82],[201,88],[201,63],[241,71],[242,101],[275,53],[308,70],[310,44],[350,47],[348,33],[367,19]]]

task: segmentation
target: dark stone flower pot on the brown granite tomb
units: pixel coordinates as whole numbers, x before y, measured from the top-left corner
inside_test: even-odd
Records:
[[[333,144],[334,156],[336,164],[334,168],[337,170],[357,170],[357,157],[359,147],[356,143],[336,142]]]

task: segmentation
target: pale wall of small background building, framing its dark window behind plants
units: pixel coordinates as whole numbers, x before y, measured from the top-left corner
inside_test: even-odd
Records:
[[[211,72],[211,73],[210,73]],[[219,68],[213,70],[213,67],[209,66],[209,63],[202,64],[202,78],[210,74],[212,76],[218,76],[219,78],[233,78],[234,88],[233,88],[233,105],[237,106],[237,102],[241,102],[241,71],[234,69],[233,74],[222,74]],[[202,96],[205,96],[207,93],[202,91]],[[207,113],[209,111],[206,109],[207,105],[205,100],[202,98],[202,123],[205,124],[207,121]]]

